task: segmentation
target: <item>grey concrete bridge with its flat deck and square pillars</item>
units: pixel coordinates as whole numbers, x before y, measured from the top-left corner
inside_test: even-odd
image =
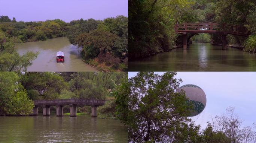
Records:
[[[35,107],[33,108],[33,116],[38,115],[38,107],[43,107],[43,116],[50,116],[50,107],[56,106],[57,116],[63,116],[63,106],[70,106],[70,117],[76,117],[77,105],[91,106],[92,114],[91,117],[97,117],[98,106],[104,105],[105,100],[94,100],[94,99],[57,99],[57,100],[36,100],[34,101]]]

